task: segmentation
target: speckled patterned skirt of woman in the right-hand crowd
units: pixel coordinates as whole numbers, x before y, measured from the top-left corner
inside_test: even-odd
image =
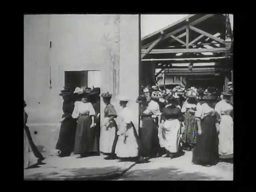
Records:
[[[195,116],[190,114],[189,112],[186,112],[184,116],[185,131],[182,136],[182,141],[185,144],[194,145],[196,144],[196,135],[198,130]]]

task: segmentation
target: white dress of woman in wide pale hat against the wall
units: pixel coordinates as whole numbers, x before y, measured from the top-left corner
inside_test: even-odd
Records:
[[[136,157],[138,156],[138,143],[134,136],[134,131],[131,125],[132,111],[125,107],[119,114],[118,126],[118,141],[116,143],[116,156],[120,158]],[[128,130],[126,131],[126,126]]]

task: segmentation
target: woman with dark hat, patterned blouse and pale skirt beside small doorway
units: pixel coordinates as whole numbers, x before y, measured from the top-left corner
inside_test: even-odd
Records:
[[[104,122],[100,132],[100,152],[107,154],[105,159],[115,159],[115,148],[117,142],[117,125],[114,118],[117,117],[114,106],[110,103],[112,94],[103,93],[103,101],[106,104],[104,109]]]

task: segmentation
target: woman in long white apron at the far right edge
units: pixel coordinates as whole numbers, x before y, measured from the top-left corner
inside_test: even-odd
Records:
[[[222,92],[223,100],[221,105],[215,107],[220,115],[220,133],[219,133],[219,155],[220,159],[232,160],[233,158],[233,106],[230,97],[231,91]]]

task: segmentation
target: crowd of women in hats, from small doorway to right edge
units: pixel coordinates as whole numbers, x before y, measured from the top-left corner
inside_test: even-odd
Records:
[[[233,159],[233,84],[225,92],[214,87],[165,89],[147,86],[136,102],[140,106],[138,132],[132,122],[129,99],[118,96],[116,112],[112,95],[101,94],[104,122],[100,128],[99,90],[62,90],[63,116],[56,149],[58,156],[79,158],[106,154],[106,160],[148,162],[150,158],[177,158],[193,151],[192,163],[212,166]],[[75,102],[74,102],[75,101]],[[118,122],[117,122],[118,119]]]

